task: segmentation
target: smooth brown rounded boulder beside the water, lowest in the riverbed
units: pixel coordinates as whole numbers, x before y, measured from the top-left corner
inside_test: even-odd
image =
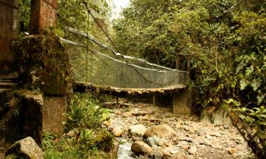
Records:
[[[135,141],[132,146],[131,146],[131,151],[133,153],[145,153],[148,155],[152,155],[153,153],[153,148],[148,146],[147,143],[143,143],[142,141]]]

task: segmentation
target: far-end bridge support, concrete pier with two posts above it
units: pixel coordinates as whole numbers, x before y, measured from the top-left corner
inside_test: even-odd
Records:
[[[180,69],[180,54],[176,55],[176,69]],[[191,57],[187,59],[187,79],[191,78]],[[184,88],[172,93],[172,110],[174,114],[190,114],[192,112],[192,90]]]

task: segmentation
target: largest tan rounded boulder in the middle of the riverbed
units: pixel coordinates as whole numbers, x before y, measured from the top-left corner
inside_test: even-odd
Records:
[[[159,138],[170,138],[177,136],[177,133],[167,124],[155,125],[145,131],[144,137],[157,136]]]

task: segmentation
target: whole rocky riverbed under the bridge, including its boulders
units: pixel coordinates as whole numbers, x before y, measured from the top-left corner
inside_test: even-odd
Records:
[[[199,117],[176,116],[170,109],[138,103],[113,108],[102,126],[116,136],[118,159],[247,159],[247,143],[229,124],[203,124]]]

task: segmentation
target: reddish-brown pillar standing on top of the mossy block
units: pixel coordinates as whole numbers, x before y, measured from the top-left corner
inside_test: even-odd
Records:
[[[57,25],[57,0],[31,0],[31,18],[29,30],[31,35],[42,33]]]

